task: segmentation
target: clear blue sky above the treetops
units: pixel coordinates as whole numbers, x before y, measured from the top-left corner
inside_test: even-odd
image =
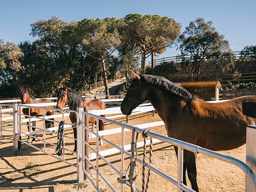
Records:
[[[0,39],[13,43],[33,41],[31,23],[55,15],[63,21],[84,18],[122,18],[130,13],[161,15],[182,24],[197,17],[211,20],[229,40],[233,51],[256,45],[256,0],[0,0]],[[161,57],[174,56],[176,47]]]

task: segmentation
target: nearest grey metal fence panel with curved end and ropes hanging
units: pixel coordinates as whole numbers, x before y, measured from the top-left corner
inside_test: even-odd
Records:
[[[124,170],[125,170],[124,169],[124,161],[125,161],[124,154],[132,158],[133,154],[135,154],[135,151],[134,151],[135,148],[132,146],[134,144],[132,144],[132,142],[131,142],[131,145],[130,145],[131,152],[128,152],[127,149],[125,150],[125,146],[124,146],[124,132],[125,132],[125,130],[129,130],[129,131],[133,131],[134,133],[142,134],[142,132],[144,130],[140,129],[138,127],[133,127],[133,126],[130,126],[130,125],[127,125],[127,124],[124,124],[124,123],[119,123],[119,122],[116,122],[116,121],[113,121],[113,120],[109,120],[109,119],[106,119],[106,118],[103,118],[103,117],[100,117],[100,116],[97,116],[97,115],[93,115],[93,114],[90,114],[90,113],[86,113],[86,112],[82,112],[82,113],[84,115],[83,116],[83,121],[85,121],[85,118],[86,118],[85,116],[88,115],[88,116],[93,116],[93,117],[95,117],[97,119],[100,119],[100,120],[103,120],[105,122],[112,123],[112,124],[115,124],[115,125],[118,125],[118,126],[121,127],[121,138],[122,138],[121,146],[118,146],[115,143],[111,142],[110,140],[104,138],[101,135],[101,133],[99,132],[98,127],[97,127],[97,131],[93,132],[90,129],[88,129],[87,126],[83,125],[83,131],[82,131],[82,132],[85,132],[84,138],[82,139],[83,140],[83,146],[81,146],[82,148],[84,148],[83,152],[84,151],[88,151],[88,148],[89,148],[96,155],[96,165],[93,165],[93,163],[90,161],[89,155],[86,154],[86,153],[83,154],[82,158],[83,158],[83,161],[85,162],[85,165],[83,167],[83,171],[85,173],[85,177],[87,177],[90,180],[90,182],[93,184],[93,186],[94,186],[94,188],[95,188],[95,190],[97,192],[101,192],[100,191],[100,186],[99,186],[100,178],[102,180],[104,180],[104,182],[106,182],[106,184],[109,186],[109,189],[111,191],[116,192],[117,189],[115,189],[112,186],[110,181],[108,181],[103,176],[101,171],[99,170],[99,159],[103,160],[109,166],[109,169],[112,169],[112,170],[116,171],[116,173],[119,176],[125,177],[125,173],[124,173]],[[88,119],[88,117],[86,119]],[[103,155],[101,155],[101,153],[99,152],[99,141],[98,141],[98,139],[96,139],[96,148],[95,149],[92,146],[90,146],[90,144],[88,142],[88,139],[85,137],[85,135],[88,135],[87,132],[90,132],[91,134],[95,135],[95,137],[97,137],[97,138],[103,139],[106,143],[108,143],[109,145],[111,145],[114,148],[116,148],[116,150],[118,150],[117,153],[120,153],[120,159],[121,159],[121,167],[120,168],[115,167],[113,164],[111,164],[107,160],[107,158],[105,158]],[[132,137],[134,137],[134,135],[135,134],[132,134]],[[243,163],[242,161],[237,160],[237,159],[235,159],[233,157],[230,157],[230,156],[226,156],[226,155],[219,154],[217,152],[214,152],[214,151],[202,148],[200,146],[195,146],[195,145],[192,145],[192,144],[189,144],[189,143],[186,143],[186,142],[174,139],[174,138],[169,138],[169,137],[166,137],[166,136],[154,133],[154,132],[150,132],[149,131],[149,132],[146,133],[146,136],[148,136],[150,138],[157,139],[157,141],[163,141],[163,142],[169,143],[171,145],[178,146],[178,179],[175,179],[175,178],[169,176],[168,174],[166,174],[163,171],[155,168],[154,166],[150,165],[149,163],[145,164],[147,169],[150,169],[151,171],[153,171],[156,174],[160,175],[161,177],[163,177],[167,181],[169,181],[172,184],[176,185],[178,192],[181,191],[181,190],[184,190],[186,192],[194,192],[194,190],[192,190],[191,188],[189,188],[185,184],[183,184],[183,151],[184,151],[184,149],[186,149],[188,151],[191,151],[191,152],[193,152],[195,154],[199,154],[199,153],[206,154],[206,155],[209,155],[209,156],[214,157],[216,159],[219,159],[219,160],[222,160],[222,161],[225,161],[225,162],[228,162],[228,163],[236,165],[237,167],[239,167],[240,169],[242,169],[245,172],[246,176],[249,178],[249,181],[253,185],[253,187],[252,187],[253,191],[256,192],[256,176],[251,171],[251,169],[245,163]],[[135,139],[132,138],[131,140],[133,141]],[[138,156],[134,156],[134,158],[135,158],[136,162],[139,162],[140,164],[143,164],[143,161]],[[132,161],[132,159],[131,160],[127,160],[127,161]],[[95,173],[96,173],[96,180],[95,179],[93,180],[93,178],[90,176],[90,174],[92,174],[92,173],[89,173],[89,171],[88,171],[88,167],[89,166],[91,166],[92,169],[95,171]],[[131,184],[129,184],[129,182],[127,182],[127,183],[128,183],[128,187],[131,187]],[[134,184],[134,186],[136,187],[136,190],[138,192],[141,192],[141,189],[140,189],[139,186],[137,186],[136,184]],[[124,192],[124,184],[122,184],[121,192]]]

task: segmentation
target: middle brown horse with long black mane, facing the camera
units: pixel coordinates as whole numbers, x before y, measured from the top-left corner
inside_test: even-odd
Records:
[[[67,87],[59,87],[58,86],[58,92],[57,92],[57,105],[56,108],[64,108],[65,105],[68,105],[71,110],[76,111],[78,107],[88,107],[89,110],[99,110],[99,109],[106,109],[106,104],[99,100],[99,99],[93,99],[90,101],[85,100],[82,98],[81,95],[76,90],[67,88]],[[105,117],[105,115],[101,115],[102,117]],[[70,121],[71,123],[77,122],[77,117],[74,113],[70,113]],[[89,117],[89,123],[94,123],[97,121],[96,118],[90,116]],[[99,120],[99,131],[104,130],[104,121]],[[73,128],[74,131],[74,138],[77,138],[77,128]],[[103,141],[100,141],[100,145],[103,144]],[[77,152],[77,140],[75,140],[75,149],[74,152]]]

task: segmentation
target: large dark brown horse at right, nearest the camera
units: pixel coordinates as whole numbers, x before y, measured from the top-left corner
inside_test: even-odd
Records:
[[[165,123],[168,137],[213,151],[231,150],[245,144],[246,126],[256,124],[256,96],[208,103],[163,77],[132,75],[122,113],[130,115],[132,109],[149,100]],[[198,192],[193,152],[184,150],[183,166],[183,183],[187,169],[192,189]]]

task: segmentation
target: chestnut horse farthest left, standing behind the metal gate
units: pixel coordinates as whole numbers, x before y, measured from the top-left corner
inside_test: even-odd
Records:
[[[29,94],[28,90],[24,86],[19,85],[19,90],[17,93],[18,93],[18,96],[20,97],[22,104],[51,103],[52,102],[51,100],[48,100],[48,99],[36,100],[32,95]],[[51,108],[51,106],[46,107],[46,108]],[[29,108],[23,108],[22,112],[24,115],[29,115]],[[45,109],[45,111],[44,111],[44,109],[40,109],[40,108],[30,108],[30,115],[36,116],[36,117],[43,116],[43,115],[54,115],[54,111],[48,110],[48,109]],[[29,118],[29,117],[25,116],[25,118]],[[52,118],[51,120],[54,120],[54,118]],[[36,121],[33,121],[32,125],[33,125],[32,130],[35,131],[34,127],[36,126]],[[51,128],[51,127],[54,127],[54,122],[46,120],[45,125],[46,125],[46,128]],[[29,131],[29,126],[28,126],[28,131]],[[32,142],[34,142],[34,141],[35,141],[35,138],[32,138]]]

